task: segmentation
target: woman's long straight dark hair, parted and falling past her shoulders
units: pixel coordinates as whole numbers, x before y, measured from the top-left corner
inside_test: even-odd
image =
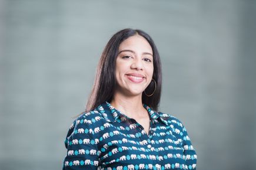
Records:
[[[119,45],[125,39],[134,35],[140,35],[147,39],[153,51],[154,73],[152,79],[157,83],[157,87],[155,89],[154,81],[151,81],[146,89],[147,94],[153,93],[154,89],[155,92],[151,97],[142,93],[142,103],[147,104],[156,111],[158,110],[161,97],[162,71],[157,47],[151,37],[144,31],[139,29],[123,29],[112,36],[102,52],[97,67],[94,86],[87,102],[86,111],[96,108],[99,104],[102,104],[105,101],[108,101],[109,103],[111,102],[117,87],[117,80],[115,78],[115,60],[118,56]]]

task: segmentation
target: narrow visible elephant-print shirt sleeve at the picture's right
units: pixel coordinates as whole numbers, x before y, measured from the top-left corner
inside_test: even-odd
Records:
[[[184,126],[182,127],[182,134],[182,146],[184,148],[184,156],[186,160],[185,169],[197,169],[197,154],[191,144],[191,141],[188,137],[188,132]]]

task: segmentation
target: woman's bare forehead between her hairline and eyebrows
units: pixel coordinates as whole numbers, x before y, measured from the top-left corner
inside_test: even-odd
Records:
[[[130,36],[128,39],[125,39],[119,45],[119,51],[129,49],[129,50],[138,50],[142,52],[152,53],[152,48],[149,45],[147,39],[140,35]]]

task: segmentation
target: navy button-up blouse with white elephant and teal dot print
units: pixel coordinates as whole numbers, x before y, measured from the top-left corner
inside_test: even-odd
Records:
[[[63,169],[196,169],[197,154],[182,123],[144,104],[150,129],[105,102],[69,128]]]

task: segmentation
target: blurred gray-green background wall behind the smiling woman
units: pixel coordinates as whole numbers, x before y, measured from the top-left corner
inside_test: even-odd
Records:
[[[120,29],[157,44],[161,111],[198,169],[256,169],[256,2],[0,1],[0,169],[61,169],[99,56]]]

